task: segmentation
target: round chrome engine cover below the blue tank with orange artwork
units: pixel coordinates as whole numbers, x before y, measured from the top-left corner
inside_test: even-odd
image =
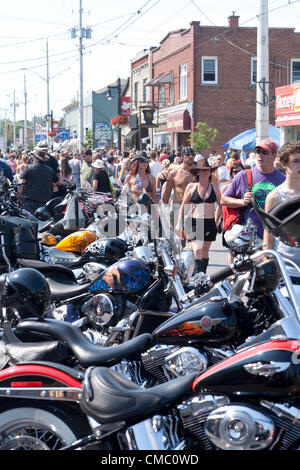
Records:
[[[81,311],[95,326],[105,326],[112,320],[117,309],[112,295],[98,294],[85,302]]]

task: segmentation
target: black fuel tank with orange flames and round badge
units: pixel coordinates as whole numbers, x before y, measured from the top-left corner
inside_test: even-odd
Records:
[[[185,309],[154,331],[159,344],[218,346],[240,335],[237,315],[243,307],[212,298]]]

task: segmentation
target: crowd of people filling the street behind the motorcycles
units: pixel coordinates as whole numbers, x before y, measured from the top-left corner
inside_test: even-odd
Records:
[[[253,200],[270,211],[284,198],[300,196],[300,141],[278,149],[265,139],[248,155],[229,149],[206,156],[188,146],[177,152],[164,147],[119,154],[110,148],[52,152],[40,145],[29,153],[1,154],[1,171],[10,181],[21,183],[24,207],[31,213],[59,194],[65,182],[72,181],[77,188],[88,182],[95,192],[111,193],[111,177],[116,178],[134,199],[146,193],[153,204],[167,208],[176,235],[193,249],[197,270],[206,272],[210,246],[218,233],[231,261],[224,233],[234,223],[251,219],[258,237],[266,246],[274,246]],[[293,256],[300,265],[296,250]]]

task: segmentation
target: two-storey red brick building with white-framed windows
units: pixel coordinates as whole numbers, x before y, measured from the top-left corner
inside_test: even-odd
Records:
[[[233,14],[228,26],[192,21],[147,51],[149,82],[144,77],[143,88],[150,88],[150,102],[159,105],[159,127],[149,129],[151,145],[177,149],[201,121],[219,130],[212,147],[220,152],[230,138],[255,127],[256,43],[256,27],[239,26]],[[299,51],[300,34],[293,28],[269,28],[270,98],[276,87],[300,80]],[[273,102],[271,124],[274,109]]]

